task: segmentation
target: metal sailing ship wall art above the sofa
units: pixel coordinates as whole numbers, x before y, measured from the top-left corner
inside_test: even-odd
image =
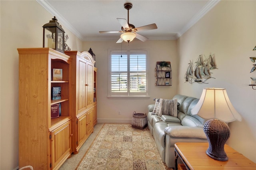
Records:
[[[212,69],[217,69],[214,55],[209,55],[208,58],[199,55],[195,63],[191,60],[188,63],[185,80],[188,83],[206,83],[208,79],[214,78],[210,72]]]

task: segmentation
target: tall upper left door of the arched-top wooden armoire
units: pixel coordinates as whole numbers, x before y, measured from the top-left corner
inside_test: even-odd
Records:
[[[86,61],[78,59],[78,113],[86,109]]]

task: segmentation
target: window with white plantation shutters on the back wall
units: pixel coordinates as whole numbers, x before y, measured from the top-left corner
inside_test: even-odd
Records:
[[[148,96],[147,51],[110,51],[109,97]]]

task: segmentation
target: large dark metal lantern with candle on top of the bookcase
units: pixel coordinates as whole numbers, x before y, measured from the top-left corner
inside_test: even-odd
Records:
[[[44,24],[43,47],[49,47],[64,53],[65,31],[57,21],[57,18],[54,16],[49,23]]]

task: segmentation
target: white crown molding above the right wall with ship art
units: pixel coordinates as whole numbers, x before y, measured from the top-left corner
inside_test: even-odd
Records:
[[[220,0],[211,0],[208,2],[202,10],[200,10],[189,22],[177,33],[176,38],[180,38],[188,29],[190,29],[196,22],[198,22],[206,13],[208,13]]]

